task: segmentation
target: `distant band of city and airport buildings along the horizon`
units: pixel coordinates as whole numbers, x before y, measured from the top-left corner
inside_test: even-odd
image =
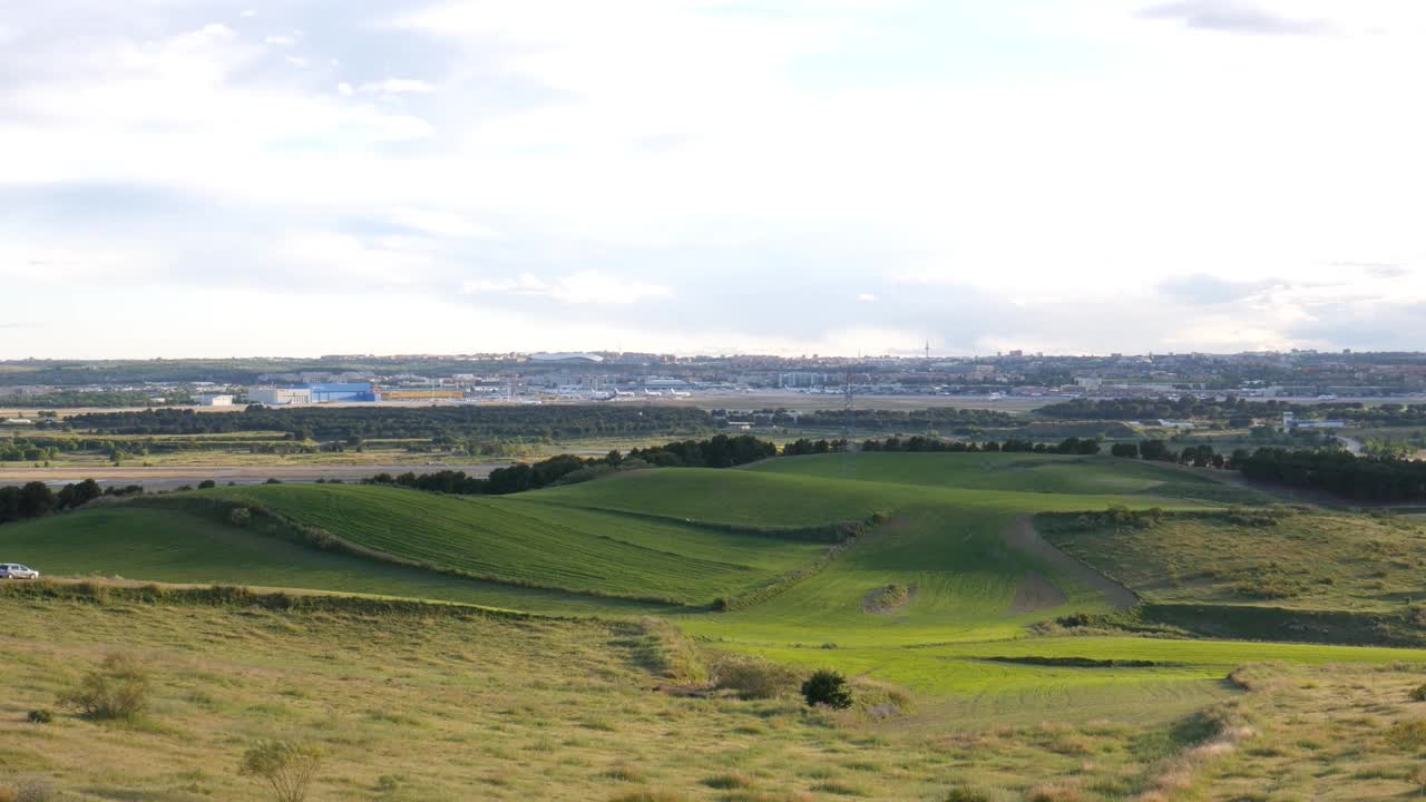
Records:
[[[14,362],[27,365],[30,361]],[[1246,398],[1402,398],[1426,394],[1426,354],[1243,352],[1051,355],[1025,351],[973,357],[674,357],[606,351],[481,355],[331,355],[264,360],[291,370],[254,371],[245,360],[184,367],[104,364],[93,371],[56,365],[34,371],[44,384],[0,387],[0,407],[41,404],[47,395],[123,392],[133,404],[208,407],[364,402],[543,402],[687,398],[700,394],[983,395],[1132,398],[1164,395]],[[30,365],[33,367],[33,365]],[[123,378],[123,371],[140,377]],[[103,372],[113,381],[68,384]],[[4,375],[4,374],[0,374]],[[13,371],[10,375],[23,375]],[[200,378],[201,377],[201,378]],[[100,401],[100,405],[113,401]],[[829,401],[830,404],[830,401]],[[74,404],[68,404],[74,405]],[[730,404],[736,407],[736,404]]]

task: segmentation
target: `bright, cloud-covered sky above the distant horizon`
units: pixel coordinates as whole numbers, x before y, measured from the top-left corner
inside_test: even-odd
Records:
[[[1426,350],[1415,0],[0,0],[0,358]]]

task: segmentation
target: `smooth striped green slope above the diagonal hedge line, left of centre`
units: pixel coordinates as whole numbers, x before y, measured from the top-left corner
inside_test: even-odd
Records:
[[[443,569],[692,605],[767,584],[826,548],[683,521],[553,508],[516,497],[449,497],[366,485],[205,492],[258,501],[359,547]]]

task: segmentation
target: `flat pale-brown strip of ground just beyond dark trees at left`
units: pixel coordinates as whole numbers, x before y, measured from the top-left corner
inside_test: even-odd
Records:
[[[482,462],[475,465],[242,465],[242,467],[167,467],[167,468],[0,468],[0,485],[19,485],[24,482],[41,481],[48,485],[66,485],[84,479],[94,479],[103,487],[110,485],[143,485],[148,489],[173,489],[183,485],[197,485],[204,479],[212,479],[220,485],[228,482],[238,485],[255,485],[270,478],[284,482],[315,482],[317,479],[341,479],[344,482],[361,481],[366,477],[386,472],[404,474],[415,471],[418,474],[432,471],[465,471],[472,477],[485,477],[496,468],[503,468],[509,462]]]

